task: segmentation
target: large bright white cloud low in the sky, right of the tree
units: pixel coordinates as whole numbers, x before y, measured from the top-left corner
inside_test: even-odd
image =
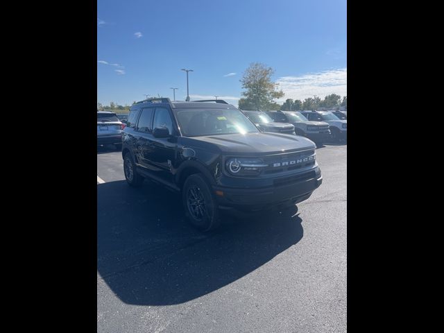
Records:
[[[328,94],[347,96],[347,69],[330,69],[302,76],[282,76],[276,81],[285,96],[278,100],[300,99],[303,101],[314,95],[323,99]]]

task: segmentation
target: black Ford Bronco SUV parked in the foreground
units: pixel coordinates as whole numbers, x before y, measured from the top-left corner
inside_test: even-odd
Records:
[[[264,133],[223,100],[148,99],[123,130],[123,171],[131,186],[149,178],[182,192],[189,221],[219,223],[219,209],[262,210],[300,203],[322,183],[309,139]]]

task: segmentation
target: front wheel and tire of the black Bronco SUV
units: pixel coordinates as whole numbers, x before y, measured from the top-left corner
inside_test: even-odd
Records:
[[[201,173],[194,173],[185,180],[182,204],[188,221],[198,230],[208,232],[219,226],[219,207]]]

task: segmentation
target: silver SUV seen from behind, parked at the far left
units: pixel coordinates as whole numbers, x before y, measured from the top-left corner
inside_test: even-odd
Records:
[[[123,124],[114,112],[97,112],[97,146],[114,144],[117,149],[122,148]]]

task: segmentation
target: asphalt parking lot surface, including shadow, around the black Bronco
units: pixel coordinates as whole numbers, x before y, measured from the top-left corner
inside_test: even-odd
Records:
[[[323,185],[297,209],[201,234],[98,148],[97,331],[346,332],[347,145],[316,153]]]

